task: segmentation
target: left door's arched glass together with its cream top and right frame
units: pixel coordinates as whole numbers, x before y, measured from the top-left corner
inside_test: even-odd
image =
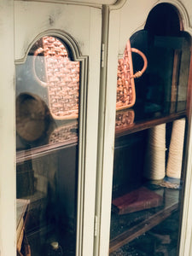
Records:
[[[36,19],[26,25],[34,11]],[[100,10],[94,7],[15,4],[19,255],[92,252],[97,138],[92,119],[98,114],[100,68],[100,44],[94,38],[100,37],[100,25]]]

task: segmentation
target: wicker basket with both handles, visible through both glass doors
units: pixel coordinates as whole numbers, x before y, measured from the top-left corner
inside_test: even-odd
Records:
[[[44,37],[43,48],[34,52],[33,71],[38,83],[48,89],[50,113],[54,119],[77,119],[79,115],[79,61],[70,61],[60,40]],[[131,52],[143,57],[141,71],[133,74]],[[36,71],[38,55],[44,55],[45,81]],[[118,62],[116,109],[131,108],[136,101],[134,79],[143,75],[148,65],[146,56],[127,42],[123,59]]]

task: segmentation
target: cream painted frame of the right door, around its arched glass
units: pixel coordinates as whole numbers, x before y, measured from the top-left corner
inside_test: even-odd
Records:
[[[179,11],[183,20],[183,31],[189,32],[192,35],[192,27],[189,26],[189,14],[186,12],[186,7],[178,1],[158,1],[158,3],[172,3]],[[94,255],[108,255],[109,236],[110,236],[110,216],[111,216],[111,196],[112,196],[112,181],[113,181],[113,153],[114,153],[114,127],[115,127],[115,102],[116,102],[116,73],[118,59],[122,57],[125,44],[134,32],[143,29],[148,13],[156,4],[154,0],[148,3],[139,1],[119,1],[113,6],[109,6],[105,17],[108,23],[108,38],[106,39],[108,52],[106,69],[106,88],[102,103],[105,106],[104,115],[100,114],[99,122],[103,124],[103,141],[102,155],[97,163],[97,183],[98,191],[96,198],[96,219],[98,220],[98,234],[95,240]],[[140,6],[138,9],[137,6]],[[189,3],[188,3],[189,5]],[[118,40],[116,37],[118,35]],[[191,83],[191,79],[190,79]],[[191,121],[190,121],[191,122]],[[191,137],[192,126],[189,124],[189,159],[187,161],[187,183],[185,185],[185,198],[183,205],[183,224],[180,240],[179,255],[190,255],[192,234],[192,222],[189,219],[192,214],[191,206],[191,189],[192,177],[190,170],[192,168],[191,160]],[[188,230],[188,233],[187,231]],[[185,241],[186,239],[186,241]],[[184,253],[183,253],[184,252]]]

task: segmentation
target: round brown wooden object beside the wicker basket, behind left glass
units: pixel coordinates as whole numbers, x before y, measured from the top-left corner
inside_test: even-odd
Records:
[[[49,108],[36,95],[21,93],[16,99],[16,131],[27,142],[44,137],[48,129]]]

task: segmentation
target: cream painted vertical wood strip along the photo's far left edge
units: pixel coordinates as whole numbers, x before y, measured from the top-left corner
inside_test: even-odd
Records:
[[[15,250],[14,2],[0,2],[0,255]]]

